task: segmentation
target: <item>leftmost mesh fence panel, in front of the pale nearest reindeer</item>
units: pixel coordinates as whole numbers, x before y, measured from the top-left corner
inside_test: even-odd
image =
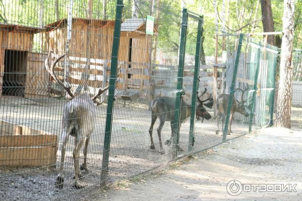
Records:
[[[103,180],[116,2],[1,4],[0,200],[73,199]]]

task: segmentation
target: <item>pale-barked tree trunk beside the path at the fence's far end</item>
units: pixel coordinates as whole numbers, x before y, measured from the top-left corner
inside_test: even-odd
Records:
[[[285,128],[290,128],[294,1],[295,0],[284,0],[283,9],[284,35],[281,45],[280,84],[278,90],[276,126]]]

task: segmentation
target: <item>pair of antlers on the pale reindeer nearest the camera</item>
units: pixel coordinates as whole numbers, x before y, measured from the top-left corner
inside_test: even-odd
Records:
[[[75,97],[75,94],[71,91],[71,87],[69,86],[65,86],[64,83],[59,80],[57,78],[57,76],[55,75],[55,72],[54,72],[54,68],[55,68],[55,65],[59,62],[60,59],[62,59],[64,56],[66,56],[66,54],[63,54],[59,57],[56,58],[56,56],[54,55],[53,53],[53,50],[50,50],[48,52],[48,55],[47,55],[47,58],[44,62],[45,64],[45,68],[46,70],[49,72],[49,74],[51,75],[51,77],[60,85],[62,86],[62,88],[67,92],[67,94],[69,95],[69,99],[72,99]],[[56,58],[56,59],[55,59]],[[53,62],[53,60],[55,59],[55,61]],[[107,89],[109,88],[109,86],[106,86],[105,88],[97,88],[95,90],[95,94],[93,94],[92,97],[90,97],[93,102],[98,106],[100,105],[100,103],[98,102],[97,98],[102,94],[104,93]]]

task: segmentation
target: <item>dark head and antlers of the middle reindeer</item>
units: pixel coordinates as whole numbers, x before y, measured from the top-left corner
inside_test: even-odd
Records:
[[[205,94],[206,91],[207,91],[207,89],[204,88],[204,91],[202,92],[202,94],[200,96],[197,95],[197,100],[198,100],[199,104],[198,104],[197,109],[196,109],[196,117],[198,119],[202,118],[202,119],[209,120],[209,119],[211,119],[212,116],[206,111],[204,106],[206,106],[207,108],[212,108],[213,107],[212,94],[210,94],[210,96],[208,98],[206,98],[205,100],[200,99],[200,97],[202,97]]]

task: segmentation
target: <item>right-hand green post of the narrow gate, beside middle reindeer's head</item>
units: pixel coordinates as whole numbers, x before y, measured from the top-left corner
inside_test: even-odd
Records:
[[[195,123],[195,113],[196,113],[196,96],[199,88],[199,64],[200,64],[200,48],[201,48],[201,37],[202,37],[202,26],[203,18],[198,20],[197,28],[197,40],[196,40],[196,53],[195,53],[195,66],[194,66],[194,80],[193,80],[193,92],[192,92],[192,107],[191,107],[191,119],[190,119],[190,134],[189,134],[189,145],[188,150],[192,151],[194,143],[194,123]]]

